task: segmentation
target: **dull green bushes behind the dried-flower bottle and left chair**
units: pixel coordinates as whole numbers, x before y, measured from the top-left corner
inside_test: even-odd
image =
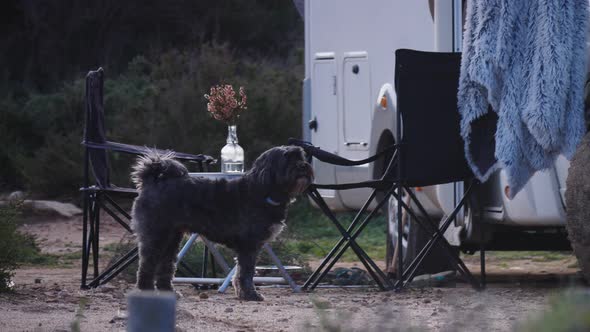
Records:
[[[137,56],[120,76],[105,68],[109,140],[206,153],[218,158],[227,128],[210,118],[204,94],[214,84],[242,85],[248,110],[238,121],[246,164],[273,145],[300,136],[300,57],[282,63],[238,58],[228,45]],[[84,80],[51,94],[0,99],[0,186],[43,197],[78,197],[82,184]],[[270,125],[272,123],[272,125]],[[129,184],[129,156],[111,154],[118,185]]]

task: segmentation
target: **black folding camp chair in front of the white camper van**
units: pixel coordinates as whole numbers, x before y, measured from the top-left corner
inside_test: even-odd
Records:
[[[397,50],[395,55],[397,117],[396,143],[393,146],[368,159],[352,161],[323,151],[307,142],[290,140],[291,144],[302,146],[310,157],[339,166],[366,164],[391,156],[383,176],[379,179],[347,184],[314,183],[309,187],[308,195],[338,228],[342,238],[305,282],[304,289],[315,288],[349,247],[352,248],[381,289],[401,289],[411,282],[424,258],[432,252],[437,243],[440,245],[437,245],[436,248],[443,248],[452,266],[456,267],[457,271],[473,287],[479,289],[483,285],[483,282],[480,284],[475,279],[457,251],[443,236],[459,211],[465,206],[476,182],[465,161],[464,143],[459,131],[457,87],[461,55],[460,53],[413,50]],[[467,190],[455,209],[442,221],[435,222],[428,216],[411,188],[450,182],[465,182]],[[328,208],[318,189],[348,190],[356,188],[371,188],[372,191],[351,225],[348,229],[344,229]],[[406,204],[402,199],[401,193],[404,191],[409,194],[411,204]],[[395,282],[387,278],[355,241],[363,228],[390,197],[397,200],[398,220],[402,220],[402,209],[405,209],[419,227],[422,227],[428,234],[432,234],[406,269],[404,269],[402,250],[398,250],[397,280]],[[375,207],[369,212],[369,206],[373,201],[376,201]],[[414,208],[410,208],[410,206]],[[368,215],[363,218],[367,212],[369,212]],[[398,237],[403,234],[401,222],[398,223],[397,234]],[[397,241],[401,243],[401,238],[398,238]],[[481,253],[483,277],[483,248]]]

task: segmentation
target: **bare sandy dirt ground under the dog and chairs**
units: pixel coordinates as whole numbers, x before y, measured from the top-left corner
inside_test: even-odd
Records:
[[[22,230],[37,236],[44,252],[76,253],[80,218],[31,219]],[[121,228],[106,224],[103,243],[116,242]],[[479,271],[477,257],[467,257]],[[23,267],[16,271],[14,293],[0,295],[0,331],[124,331],[126,294],[123,280],[80,290],[79,260],[68,268]],[[583,288],[572,256],[536,262],[502,260],[490,255],[489,284],[476,291],[454,287],[379,292],[376,288],[320,287],[293,293],[285,287],[260,287],[266,300],[238,301],[232,291],[197,290],[178,285],[177,331],[511,331],[538,317],[549,300],[566,289]],[[415,331],[415,330],[414,330]]]

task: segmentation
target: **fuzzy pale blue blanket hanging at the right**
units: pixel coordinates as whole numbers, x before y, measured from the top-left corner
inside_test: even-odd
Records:
[[[588,0],[468,1],[458,109],[480,181],[503,168],[514,197],[574,153],[585,133],[587,24]],[[490,116],[495,126],[479,123]]]

